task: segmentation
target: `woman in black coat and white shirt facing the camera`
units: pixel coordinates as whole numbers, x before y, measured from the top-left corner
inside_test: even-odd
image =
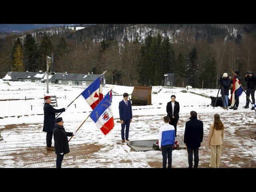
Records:
[[[172,95],[171,99],[172,101],[167,103],[166,112],[167,112],[167,116],[170,117],[169,124],[174,126],[175,137],[177,137],[177,123],[179,120],[180,104],[179,102],[175,101],[176,100],[175,95]]]

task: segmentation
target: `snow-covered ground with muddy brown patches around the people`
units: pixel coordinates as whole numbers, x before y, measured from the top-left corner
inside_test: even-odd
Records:
[[[103,87],[105,95],[112,85]],[[58,107],[70,104],[86,87],[49,85],[50,95],[57,96]],[[161,167],[162,155],[159,151],[134,152],[127,144],[120,143],[121,125],[118,103],[122,94],[131,94],[133,87],[115,86],[112,110],[115,127],[106,137],[90,118],[70,141],[70,153],[64,156],[63,167]],[[162,118],[166,115],[166,104],[172,94],[180,102],[180,120],[177,140],[182,142],[185,123],[191,110],[198,113],[204,122],[204,142],[200,148],[200,165],[207,167],[210,159],[208,130],[215,113],[219,113],[224,125],[222,167],[256,168],[255,112],[243,109],[246,97],[240,97],[238,110],[213,109],[207,96],[216,96],[216,89],[152,87],[152,105],[132,106],[133,122],[130,125],[130,140],[157,139]],[[0,167],[54,167],[56,155],[46,151],[46,133],[42,132],[43,105],[46,85],[30,82],[3,82],[0,80]],[[25,100],[26,98],[26,100]],[[75,131],[90,114],[91,108],[82,96],[61,114],[66,131]],[[235,122],[236,121],[236,122]],[[52,140],[54,143],[54,140]],[[240,146],[240,144],[242,146]],[[187,167],[186,150],[175,150],[173,167]]]

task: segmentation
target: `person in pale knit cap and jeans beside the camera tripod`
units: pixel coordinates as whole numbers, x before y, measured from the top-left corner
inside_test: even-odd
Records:
[[[228,90],[230,86],[230,80],[228,78],[228,74],[224,73],[223,77],[220,76],[220,82],[219,84],[222,86],[224,93],[222,92],[222,88],[220,89],[220,94],[222,96],[222,103],[223,103],[223,108],[227,109],[228,108]],[[226,101],[226,102],[225,102]]]

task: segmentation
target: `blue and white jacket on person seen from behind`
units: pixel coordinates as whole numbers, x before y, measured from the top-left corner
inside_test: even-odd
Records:
[[[174,144],[175,142],[175,129],[169,123],[164,124],[159,130],[159,148],[164,145]]]

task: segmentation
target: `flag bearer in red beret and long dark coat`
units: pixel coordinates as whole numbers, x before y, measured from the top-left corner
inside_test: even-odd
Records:
[[[60,113],[66,111],[68,108],[62,108],[62,109],[54,109],[50,103],[52,102],[52,99],[50,96],[44,97],[44,128],[43,131],[47,132],[46,134],[46,150],[54,151],[54,148],[52,147],[52,132],[54,129],[55,124],[55,113]]]

